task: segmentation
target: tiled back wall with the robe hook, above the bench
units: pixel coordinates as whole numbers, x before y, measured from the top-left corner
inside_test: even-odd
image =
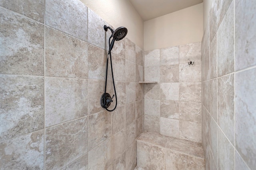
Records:
[[[201,142],[201,43],[145,51],[145,81],[145,131]]]

